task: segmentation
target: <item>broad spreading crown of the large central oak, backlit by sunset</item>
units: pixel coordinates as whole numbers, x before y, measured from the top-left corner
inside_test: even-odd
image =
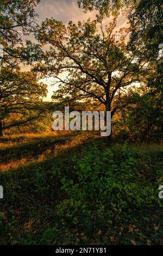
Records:
[[[53,99],[98,102],[111,111],[111,117],[122,106],[126,88],[140,82],[146,72],[143,59],[137,59],[127,44],[128,28],[116,31],[116,19],[97,31],[97,22],[78,25],[47,19],[37,39],[49,47],[44,61],[35,66],[42,75],[55,78],[59,89]],[[59,74],[67,71],[67,78]]]

